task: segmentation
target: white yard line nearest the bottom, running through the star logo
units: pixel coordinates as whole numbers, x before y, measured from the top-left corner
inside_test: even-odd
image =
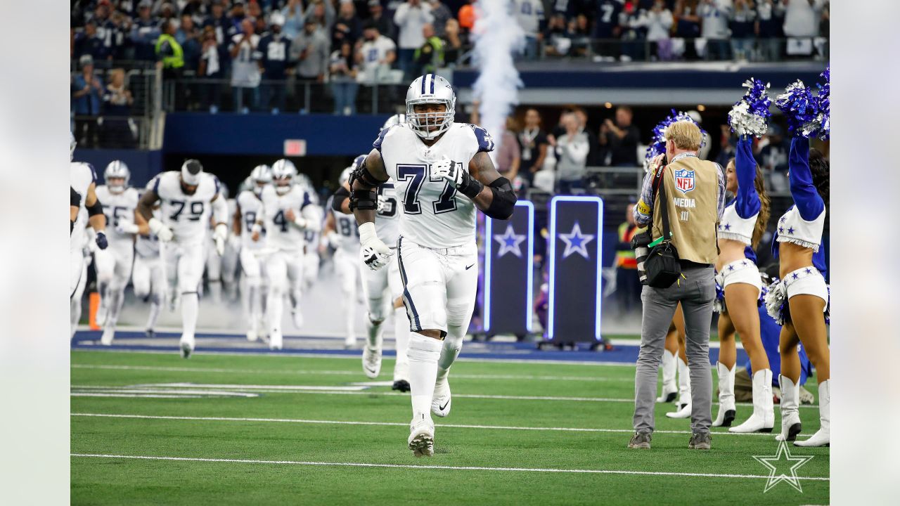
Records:
[[[512,473],[573,473],[573,474],[644,474],[654,476],[689,476],[698,478],[749,478],[769,479],[769,475],[761,474],[713,474],[713,473],[671,473],[663,471],[626,471],[621,469],[554,469],[540,467],[487,467],[476,465],[411,465],[411,464],[374,464],[364,462],[304,462],[298,460],[257,460],[249,458],[203,458],[193,456],[147,456],[147,455],[108,455],[91,453],[72,453],[69,456],[92,458],[130,458],[138,460],[175,460],[182,462],[224,462],[234,464],[277,464],[277,465],[328,465],[336,467],[385,467],[393,469],[447,469],[452,471],[506,471]],[[798,480],[829,482],[831,478],[818,476],[797,476]]]

